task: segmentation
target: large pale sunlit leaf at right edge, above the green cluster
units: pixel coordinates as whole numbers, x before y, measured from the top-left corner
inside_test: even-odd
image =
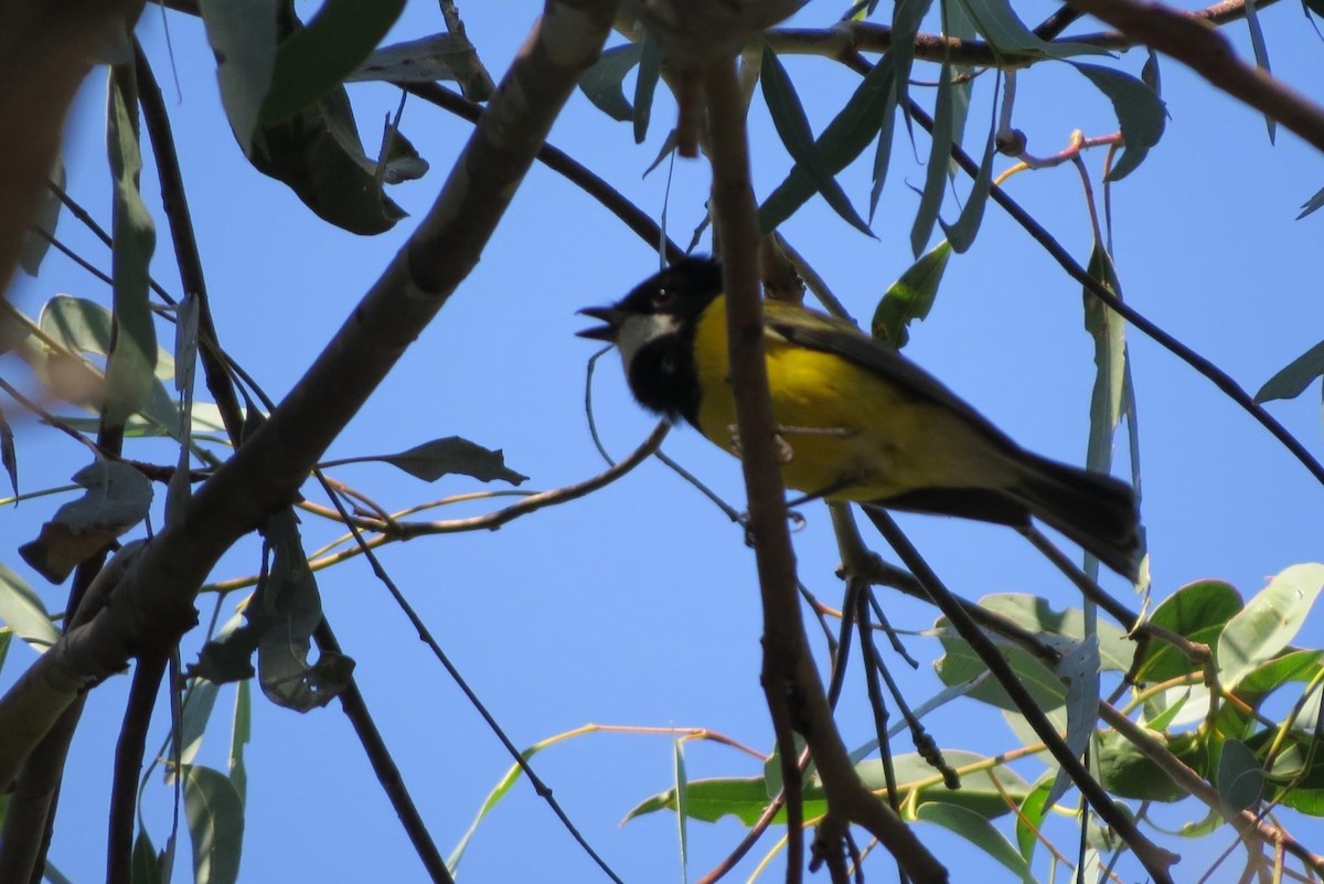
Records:
[[[1218,637],[1218,679],[1227,689],[1275,656],[1300,630],[1324,588],[1324,565],[1292,565],[1255,594]]]

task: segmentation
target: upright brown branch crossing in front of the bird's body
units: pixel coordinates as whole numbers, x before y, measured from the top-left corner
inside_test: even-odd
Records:
[[[830,817],[867,828],[915,881],[945,881],[947,869],[859,779],[809,651],[768,394],[755,259],[759,233],[749,183],[744,103],[733,60],[710,62],[703,71],[703,90],[708,103],[715,221],[723,245],[731,386],[763,596],[763,687],[768,707],[775,727],[780,729],[782,723],[789,723],[805,737],[822,778]],[[785,749],[782,754],[793,757]],[[796,831],[788,828],[788,835],[794,838]],[[792,863],[789,855],[788,863]],[[790,868],[797,864],[792,863]]]

